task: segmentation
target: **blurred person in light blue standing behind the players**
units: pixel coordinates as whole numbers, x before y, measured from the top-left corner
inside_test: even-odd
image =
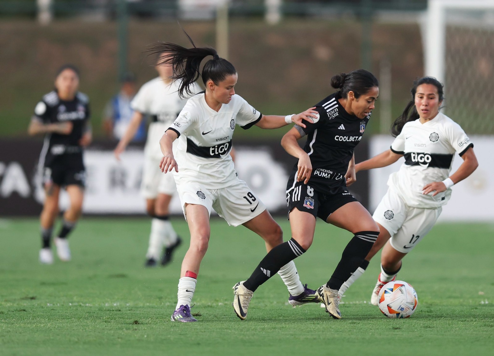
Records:
[[[122,79],[120,92],[105,106],[102,121],[103,130],[108,138],[121,140],[134,115],[130,103],[136,91],[135,76],[128,72]],[[146,139],[146,121],[142,120],[135,132],[132,142],[142,142]]]

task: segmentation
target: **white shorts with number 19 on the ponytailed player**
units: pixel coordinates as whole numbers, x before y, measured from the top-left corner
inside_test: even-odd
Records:
[[[209,214],[214,209],[228,225],[233,226],[242,225],[266,210],[264,203],[252,193],[247,183],[238,178],[233,185],[221,189],[206,189],[202,183],[184,181],[177,185],[177,191],[185,220],[186,203],[203,205]]]

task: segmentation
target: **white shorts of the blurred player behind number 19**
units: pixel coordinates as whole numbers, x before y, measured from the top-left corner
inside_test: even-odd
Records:
[[[177,188],[173,174],[163,173],[160,169],[160,160],[145,156],[142,171],[141,195],[146,199],[155,199],[158,194],[173,195]]]

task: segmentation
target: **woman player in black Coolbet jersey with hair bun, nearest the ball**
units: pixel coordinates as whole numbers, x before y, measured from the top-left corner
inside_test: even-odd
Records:
[[[331,86],[340,90],[315,105],[319,118],[307,122],[305,128],[295,125],[283,137],[282,146],[298,158],[287,185],[292,238],[273,248],[246,281],[234,286],[233,306],[241,319],[247,316],[257,287],[310,247],[316,217],[354,234],[328,283],[317,290],[326,312],[341,318],[338,290],[362,263],[379,234],[371,214],[346,188],[346,180],[355,178],[353,150],[371,117],[378,85],[363,69],[334,76]],[[297,140],[306,135],[301,149]]]

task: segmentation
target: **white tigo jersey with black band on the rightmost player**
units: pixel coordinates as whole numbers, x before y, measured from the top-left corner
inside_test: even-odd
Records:
[[[454,153],[463,156],[470,147],[473,143],[460,125],[444,114],[425,123],[419,119],[407,122],[391,145],[391,151],[404,155],[405,163],[389,176],[388,186],[411,207],[442,206],[450,199],[451,189],[432,197],[432,193],[422,194],[423,187],[448,178]]]

